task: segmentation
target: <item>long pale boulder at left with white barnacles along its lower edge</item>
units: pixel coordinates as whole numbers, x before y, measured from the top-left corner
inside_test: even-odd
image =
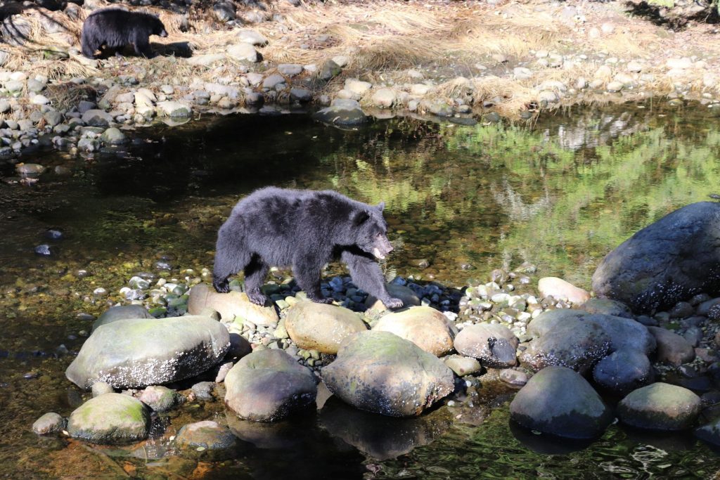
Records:
[[[117,320],[90,335],[65,374],[82,389],[143,388],[202,373],[229,347],[228,329],[210,317]]]

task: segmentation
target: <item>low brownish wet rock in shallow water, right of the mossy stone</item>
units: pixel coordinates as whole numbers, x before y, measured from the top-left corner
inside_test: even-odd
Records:
[[[183,425],[175,437],[181,456],[202,461],[232,458],[238,450],[238,438],[227,427],[212,420]]]

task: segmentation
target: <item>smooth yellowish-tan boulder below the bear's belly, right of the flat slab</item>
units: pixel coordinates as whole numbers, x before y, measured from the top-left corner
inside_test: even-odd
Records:
[[[297,302],[290,307],[285,328],[298,348],[333,354],[348,335],[367,330],[351,310],[315,302]]]

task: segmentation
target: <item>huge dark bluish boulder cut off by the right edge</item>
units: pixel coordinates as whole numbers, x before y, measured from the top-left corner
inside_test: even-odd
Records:
[[[701,201],[636,232],[603,258],[593,290],[634,312],[720,292],[720,203]]]

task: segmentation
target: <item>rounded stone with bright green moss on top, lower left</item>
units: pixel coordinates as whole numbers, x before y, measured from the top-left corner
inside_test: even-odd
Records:
[[[68,419],[72,438],[91,443],[127,443],[148,437],[150,412],[140,400],[123,394],[90,399]]]

